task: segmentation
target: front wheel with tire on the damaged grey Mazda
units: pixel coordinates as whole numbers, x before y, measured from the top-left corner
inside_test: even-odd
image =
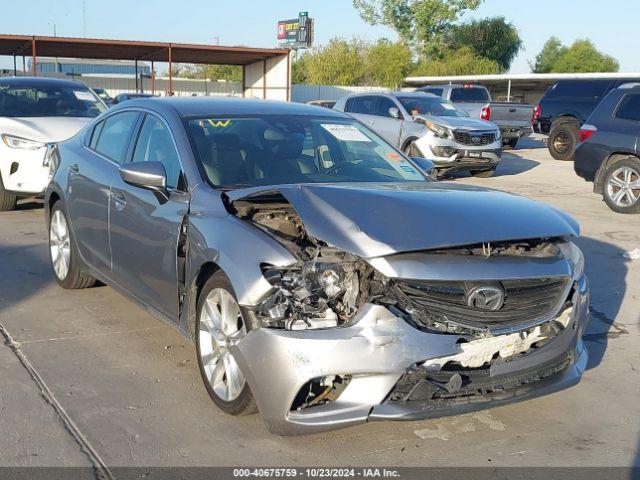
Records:
[[[247,327],[227,276],[218,271],[205,283],[196,311],[196,353],[200,375],[213,402],[230,415],[257,411],[249,384],[229,346]]]

